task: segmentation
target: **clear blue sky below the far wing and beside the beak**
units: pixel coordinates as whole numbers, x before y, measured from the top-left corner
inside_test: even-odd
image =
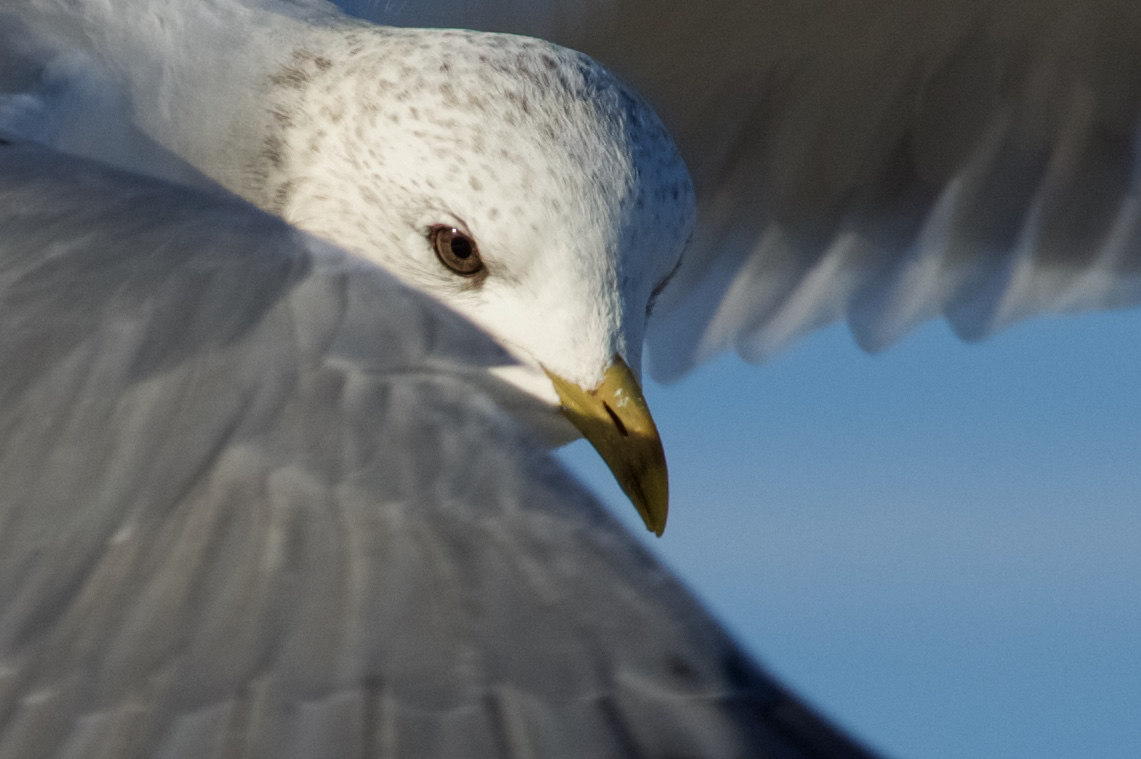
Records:
[[[1141,756],[1141,312],[837,325],[647,397],[647,543],[761,662],[893,757]],[[646,534],[584,443],[564,460]]]

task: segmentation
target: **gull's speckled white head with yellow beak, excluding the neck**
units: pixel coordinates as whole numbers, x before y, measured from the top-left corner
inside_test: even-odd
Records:
[[[661,534],[641,346],[694,192],[646,102],[540,40],[380,29],[296,51],[267,100],[262,205],[499,339],[521,364],[507,378],[563,412],[548,436],[569,419]]]

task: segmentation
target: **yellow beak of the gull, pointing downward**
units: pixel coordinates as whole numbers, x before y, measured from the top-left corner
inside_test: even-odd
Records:
[[[641,387],[618,356],[602,376],[602,383],[584,390],[547,372],[563,404],[563,413],[590,441],[614,473],[646,528],[661,536],[670,509],[665,451]]]

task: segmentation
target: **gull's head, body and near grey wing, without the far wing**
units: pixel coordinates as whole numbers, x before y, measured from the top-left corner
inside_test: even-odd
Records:
[[[633,461],[661,532],[637,373],[694,197],[640,96],[138,9],[3,19],[0,754],[871,756],[547,453]]]

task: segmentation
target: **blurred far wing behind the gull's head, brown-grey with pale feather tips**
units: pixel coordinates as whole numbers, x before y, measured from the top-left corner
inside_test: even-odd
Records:
[[[661,377],[837,318],[876,350],[1141,301],[1134,0],[339,5],[553,39],[647,95],[701,201]]]

